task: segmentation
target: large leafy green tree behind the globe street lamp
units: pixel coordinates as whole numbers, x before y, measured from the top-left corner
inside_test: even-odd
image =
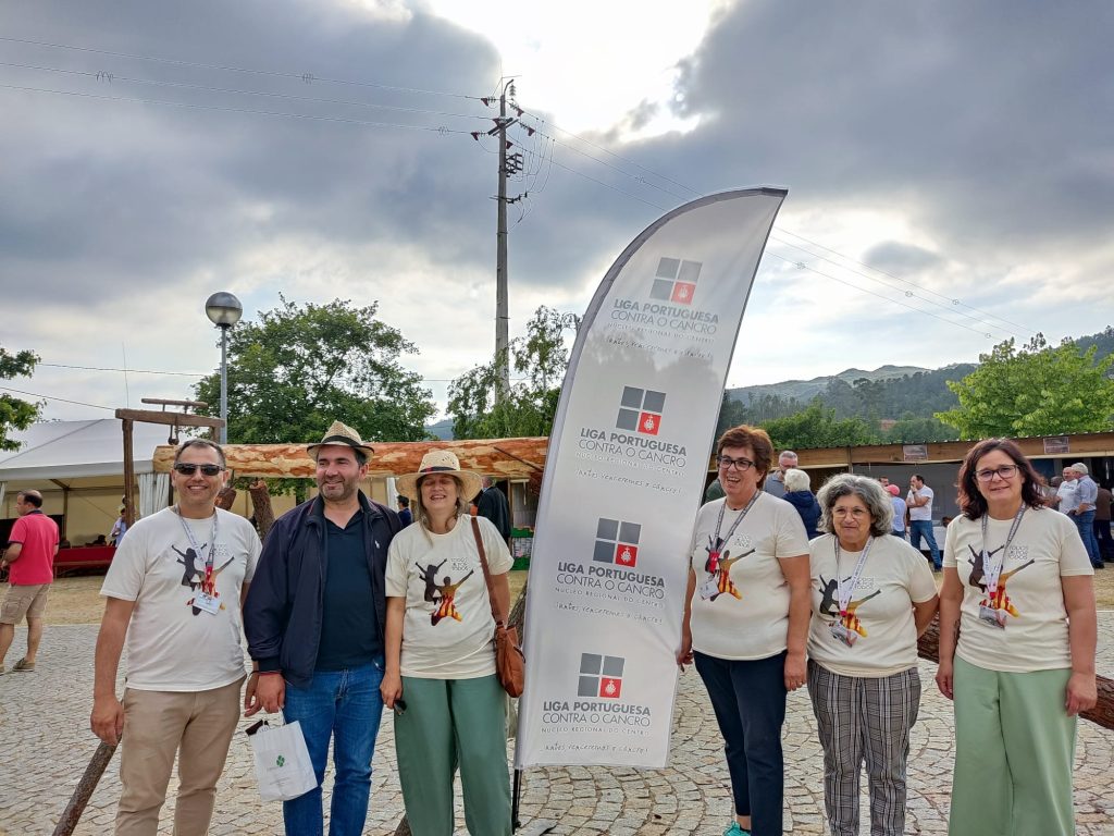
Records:
[[[421,378],[399,362],[418,349],[375,318],[378,303],[355,308],[282,304],[228,336],[228,440],[317,440],[334,420],[370,441],[419,441],[436,411]],[[219,414],[221,375],[195,387]]]

